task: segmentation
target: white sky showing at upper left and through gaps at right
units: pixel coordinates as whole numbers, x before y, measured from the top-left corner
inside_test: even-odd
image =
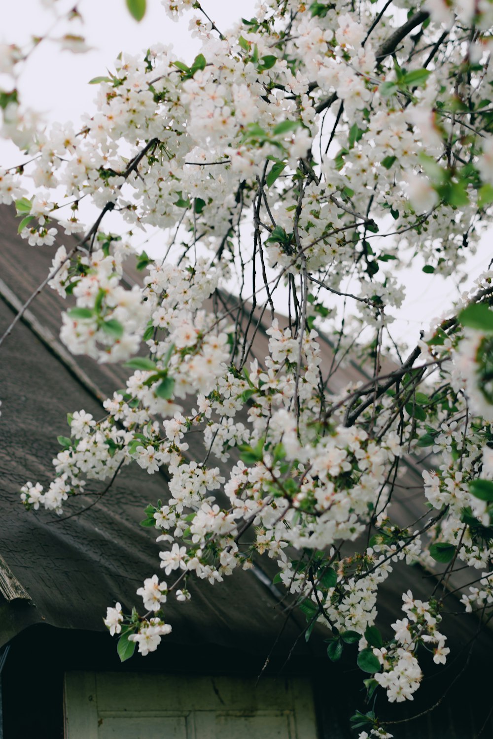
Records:
[[[58,0],[55,7],[59,5],[61,10],[67,10],[74,6],[74,1]],[[166,16],[160,0],[147,0],[147,4],[146,16],[137,24],[126,10],[125,0],[79,1],[77,7],[84,24],[72,21],[68,28],[67,24],[55,27],[50,35],[84,35],[93,49],[84,55],[75,55],[60,52],[58,44],[50,41],[40,44],[21,76],[19,90],[24,103],[44,112],[47,120],[77,123],[81,115],[93,109],[95,86],[87,83],[104,75],[106,67],[112,67],[120,51],[138,55],[149,45],[159,42],[172,44],[177,56],[191,61],[199,50],[199,43],[190,38],[188,23],[197,11],[185,13],[174,23]],[[225,29],[240,16],[253,16],[256,0],[202,0],[202,4],[217,26]],[[53,13],[42,7],[41,0],[11,0],[2,6],[0,43],[24,44],[30,35],[44,35],[52,26]],[[0,139],[0,166],[18,163],[18,152]],[[109,223],[109,228],[115,225]],[[491,242],[492,232],[489,231],[483,236],[477,255],[469,259],[469,279],[462,289],[472,285],[487,268],[493,253]],[[426,275],[421,268],[420,262],[406,273],[407,299],[400,310],[393,312],[398,316],[394,324],[395,336],[411,344],[415,344],[420,328],[426,330],[429,321],[440,316],[458,295],[453,279]],[[403,276],[400,273],[398,279]]]

